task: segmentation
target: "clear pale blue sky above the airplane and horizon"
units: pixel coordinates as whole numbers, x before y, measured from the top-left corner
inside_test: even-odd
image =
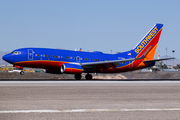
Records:
[[[164,24],[157,51],[180,58],[179,0],[0,0],[0,51],[123,52],[156,23]]]

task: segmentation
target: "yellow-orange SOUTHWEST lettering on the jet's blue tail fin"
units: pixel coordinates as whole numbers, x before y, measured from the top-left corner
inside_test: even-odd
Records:
[[[158,29],[157,29],[157,27],[155,27],[148,34],[148,36],[136,47],[136,49],[134,50],[136,52],[136,54],[139,54],[143,50],[143,48],[151,41],[152,37],[154,37],[157,32],[158,32]]]

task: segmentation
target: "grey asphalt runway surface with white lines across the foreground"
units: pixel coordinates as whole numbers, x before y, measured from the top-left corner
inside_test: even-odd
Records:
[[[180,119],[180,81],[0,81],[0,120]]]

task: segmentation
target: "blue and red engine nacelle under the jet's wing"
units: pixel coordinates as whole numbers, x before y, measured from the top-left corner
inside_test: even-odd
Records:
[[[82,66],[76,64],[64,63],[61,65],[61,73],[72,73],[72,74],[81,74],[83,71]]]

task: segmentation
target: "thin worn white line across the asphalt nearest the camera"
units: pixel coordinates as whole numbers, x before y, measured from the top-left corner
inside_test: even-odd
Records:
[[[180,108],[164,109],[72,109],[72,110],[7,110],[0,113],[79,113],[79,112],[137,112],[137,111],[180,111]]]

